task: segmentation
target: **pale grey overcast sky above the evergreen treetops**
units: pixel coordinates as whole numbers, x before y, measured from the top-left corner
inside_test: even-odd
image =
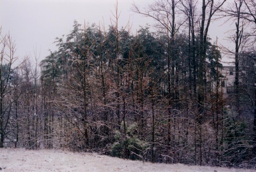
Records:
[[[130,19],[133,32],[146,23],[153,25],[153,20],[134,14],[132,3],[145,6],[154,0],[119,0],[121,11],[120,26],[125,26]],[[34,50],[40,52],[40,60],[49,55],[49,49],[56,50],[55,37],[69,34],[73,22],[110,24],[111,11],[116,0],[0,0],[0,25],[2,34],[10,32],[16,43],[16,56],[20,59],[26,55],[34,56]],[[215,23],[209,30],[212,40],[219,37],[219,43],[226,46],[224,31]]]

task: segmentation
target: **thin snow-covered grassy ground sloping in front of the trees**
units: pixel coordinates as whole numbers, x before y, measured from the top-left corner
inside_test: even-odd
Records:
[[[182,164],[143,163],[61,150],[0,149],[2,172],[255,172]]]

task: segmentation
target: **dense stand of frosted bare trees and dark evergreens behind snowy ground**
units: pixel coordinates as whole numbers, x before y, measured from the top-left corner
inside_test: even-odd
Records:
[[[256,2],[156,0],[131,10],[153,18],[154,30],[119,26],[116,4],[110,26],[75,20],[36,64],[16,65],[15,43],[1,34],[0,148],[254,168]],[[215,20],[233,22],[234,49],[208,36]],[[229,93],[223,54],[233,58]]]

